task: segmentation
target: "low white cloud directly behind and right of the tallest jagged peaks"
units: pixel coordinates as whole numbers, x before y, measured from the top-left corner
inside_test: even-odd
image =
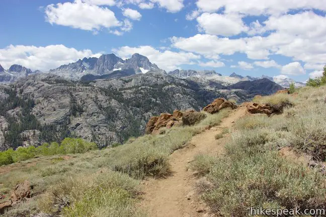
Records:
[[[201,56],[187,52],[159,51],[151,46],[129,47],[124,46],[113,49],[118,56],[128,58],[134,53],[148,57],[149,61],[155,63],[159,68],[167,71],[175,70],[182,64],[195,64]]]

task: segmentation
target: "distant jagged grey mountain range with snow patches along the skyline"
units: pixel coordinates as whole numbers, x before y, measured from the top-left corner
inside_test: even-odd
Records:
[[[304,86],[302,82],[296,82],[286,76],[269,77],[263,75],[262,77],[241,76],[236,73],[230,76],[223,76],[214,70],[179,70],[166,72],[157,65],[151,63],[147,57],[140,54],[133,54],[131,58],[123,60],[115,54],[102,55],[100,58],[91,57],[79,59],[76,62],[67,65],[61,65],[56,69],[51,69],[46,73],[55,74],[63,78],[71,80],[92,81],[96,79],[113,79],[130,76],[133,74],[145,74],[147,72],[155,72],[168,74],[174,77],[190,79],[194,78],[206,79],[217,82],[224,86],[232,85],[240,81],[255,81],[262,78],[267,78],[282,87],[289,87],[292,82],[297,87]],[[30,74],[42,73],[39,70],[32,71],[20,65],[12,65],[8,70],[5,70],[0,65],[0,82],[10,83],[17,81],[19,78],[26,77]]]

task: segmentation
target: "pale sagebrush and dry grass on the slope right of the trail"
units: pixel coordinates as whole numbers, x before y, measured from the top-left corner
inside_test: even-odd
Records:
[[[280,116],[239,120],[226,156],[196,158],[194,169],[214,186],[201,191],[216,214],[246,216],[253,206],[326,208],[325,179],[319,168],[283,158],[277,151],[291,146],[325,160],[325,97],[326,87],[302,88],[295,99],[283,94],[263,97],[260,102],[290,101],[295,106]]]

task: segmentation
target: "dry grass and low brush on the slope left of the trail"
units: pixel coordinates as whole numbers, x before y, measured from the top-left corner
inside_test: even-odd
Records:
[[[169,174],[169,155],[186,146],[206,125],[218,125],[227,114],[209,115],[198,125],[168,129],[164,135],[131,138],[115,148],[72,154],[67,159],[41,157],[35,165],[4,173],[0,176],[3,190],[26,179],[33,185],[32,199],[6,215],[30,216],[42,210],[68,217],[144,216],[134,206],[138,180]]]

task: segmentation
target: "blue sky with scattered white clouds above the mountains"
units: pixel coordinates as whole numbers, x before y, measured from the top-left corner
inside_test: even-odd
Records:
[[[324,0],[2,0],[0,64],[47,71],[140,53],[167,71],[288,76],[326,63]]]

